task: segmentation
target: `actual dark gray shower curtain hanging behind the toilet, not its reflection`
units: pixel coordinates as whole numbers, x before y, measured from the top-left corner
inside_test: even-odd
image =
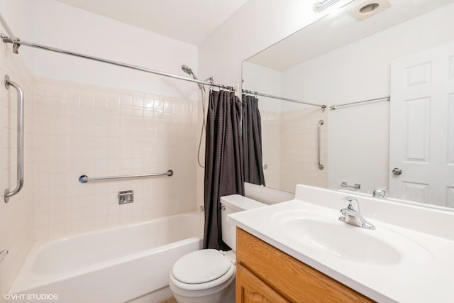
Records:
[[[230,249],[222,241],[219,198],[244,194],[241,107],[233,92],[210,93],[206,117],[204,248]]]

